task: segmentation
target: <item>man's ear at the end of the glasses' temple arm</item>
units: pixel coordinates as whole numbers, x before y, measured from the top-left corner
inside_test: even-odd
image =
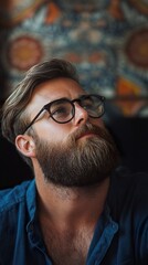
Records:
[[[15,138],[17,149],[25,157],[35,157],[35,144],[29,135],[18,135]]]

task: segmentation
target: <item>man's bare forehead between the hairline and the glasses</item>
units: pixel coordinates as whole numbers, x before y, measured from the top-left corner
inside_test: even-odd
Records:
[[[61,97],[74,99],[84,94],[86,94],[86,92],[84,92],[82,86],[71,78],[62,77],[46,81],[35,87],[28,105],[28,110],[36,112],[45,104]]]

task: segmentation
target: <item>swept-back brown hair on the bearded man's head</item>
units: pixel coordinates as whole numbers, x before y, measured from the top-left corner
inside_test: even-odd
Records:
[[[15,137],[28,126],[29,115],[25,110],[36,86],[59,77],[78,82],[75,66],[62,59],[42,62],[27,72],[2,106],[1,129],[4,138],[14,145]],[[28,158],[24,160],[27,161]]]

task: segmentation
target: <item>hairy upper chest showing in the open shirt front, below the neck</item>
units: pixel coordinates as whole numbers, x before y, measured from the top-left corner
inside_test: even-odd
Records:
[[[76,233],[64,231],[63,233],[49,232],[43,229],[43,237],[49,256],[54,265],[84,265],[93,237],[92,231],[82,229]]]

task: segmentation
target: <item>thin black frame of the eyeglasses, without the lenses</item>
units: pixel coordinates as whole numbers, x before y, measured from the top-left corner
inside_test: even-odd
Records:
[[[34,124],[34,121],[38,119],[38,117],[41,115],[41,113],[42,113],[43,110],[46,110],[46,112],[50,114],[50,117],[51,117],[55,123],[57,123],[57,124],[67,124],[67,123],[70,123],[70,121],[74,118],[74,116],[75,116],[75,105],[74,105],[74,103],[77,102],[77,103],[80,104],[80,106],[82,106],[82,105],[81,105],[81,102],[83,102],[84,99],[91,98],[91,97],[97,97],[97,98],[101,100],[101,103],[102,103],[102,105],[103,105],[103,113],[102,113],[99,116],[97,116],[97,117],[91,116],[89,114],[88,114],[88,116],[92,117],[92,118],[101,118],[101,117],[104,115],[104,113],[105,113],[105,106],[104,106],[104,104],[105,104],[105,97],[104,97],[104,96],[101,96],[101,95],[97,95],[97,94],[86,94],[86,95],[82,95],[81,97],[75,98],[75,99],[73,99],[73,100],[71,100],[71,99],[68,99],[68,98],[66,98],[66,97],[62,97],[62,98],[59,98],[59,99],[55,99],[55,100],[53,100],[53,102],[51,102],[51,103],[45,104],[45,105],[41,108],[41,110],[35,115],[35,117],[32,119],[32,121],[27,126],[27,128],[25,128],[25,130],[23,131],[22,135],[24,135],[25,131]],[[54,119],[54,117],[52,116],[52,114],[51,114],[51,112],[50,112],[50,107],[51,107],[53,104],[59,103],[59,102],[62,102],[62,100],[65,100],[65,102],[70,103],[70,104],[72,105],[72,107],[73,107],[73,115],[72,115],[72,117],[71,117],[68,120],[66,120],[66,121],[57,121],[56,119]],[[82,107],[83,107],[83,106],[82,106]],[[86,112],[87,112],[87,110],[86,110]]]

